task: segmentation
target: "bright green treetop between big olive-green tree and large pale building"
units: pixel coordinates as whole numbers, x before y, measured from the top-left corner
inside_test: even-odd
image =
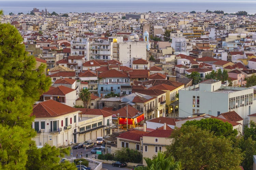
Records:
[[[209,118],[201,120],[186,121],[183,126],[195,125],[198,128],[213,132],[215,136],[237,136],[237,130],[233,130],[232,124],[219,119]]]

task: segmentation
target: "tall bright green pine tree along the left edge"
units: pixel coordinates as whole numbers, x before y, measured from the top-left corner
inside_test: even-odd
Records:
[[[0,13],[2,13],[0,11]],[[1,14],[0,14],[1,15]],[[11,24],[0,24],[0,169],[24,169],[35,131],[32,106],[49,89],[51,79],[36,68],[23,38]]]

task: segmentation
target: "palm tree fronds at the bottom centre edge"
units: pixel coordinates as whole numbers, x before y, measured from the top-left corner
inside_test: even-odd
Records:
[[[145,158],[147,167],[137,167],[136,170],[182,170],[181,162],[175,162],[173,156],[167,156],[166,153],[158,152],[153,159]]]

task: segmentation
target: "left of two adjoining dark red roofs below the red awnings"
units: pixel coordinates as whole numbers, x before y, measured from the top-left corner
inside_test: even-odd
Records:
[[[148,133],[149,132],[144,132],[141,130],[131,130],[131,131],[120,134],[118,138],[140,142],[140,138]]]

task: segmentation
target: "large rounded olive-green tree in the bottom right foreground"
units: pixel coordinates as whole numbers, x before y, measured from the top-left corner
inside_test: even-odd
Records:
[[[176,128],[170,138],[167,154],[181,162],[184,169],[239,169],[241,150],[233,148],[228,138],[217,137],[213,132],[197,126]]]

